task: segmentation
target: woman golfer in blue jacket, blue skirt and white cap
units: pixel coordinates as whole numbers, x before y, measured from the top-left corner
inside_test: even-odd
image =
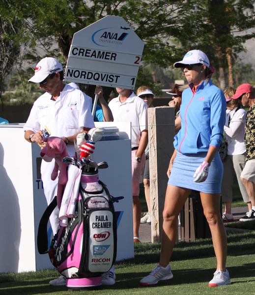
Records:
[[[217,259],[209,286],[225,286],[230,284],[230,278],[226,269],[227,238],[220,213],[223,165],[218,148],[223,140],[226,99],[222,90],[212,84],[214,69],[200,50],[189,51],[174,66],[184,72],[189,89],[183,91],[183,127],[174,138],[175,150],[168,170],[160,262],[140,284],[151,286],[173,277],[169,260],[176,240],[176,221],[193,189],[200,192]]]

